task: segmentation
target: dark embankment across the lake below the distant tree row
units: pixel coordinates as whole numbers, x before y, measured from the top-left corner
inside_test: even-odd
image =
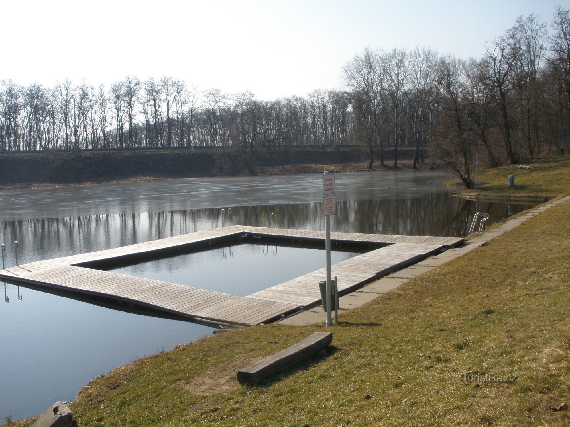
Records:
[[[413,158],[412,147],[398,148],[398,160]],[[376,153],[380,158],[380,153]],[[385,153],[393,161],[394,150]],[[0,154],[0,185],[108,182],[136,178],[194,178],[264,174],[288,166],[360,163],[368,160],[361,147],[298,147],[244,153],[235,149],[152,149],[45,151]],[[266,169],[266,171],[264,171]],[[305,170],[299,170],[303,172]]]

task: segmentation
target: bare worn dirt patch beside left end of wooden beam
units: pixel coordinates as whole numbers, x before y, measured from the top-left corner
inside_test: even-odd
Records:
[[[217,395],[230,392],[239,385],[236,377],[239,369],[245,368],[257,360],[249,358],[219,364],[203,372],[202,375],[194,377],[190,383],[181,384],[182,388],[194,395]]]

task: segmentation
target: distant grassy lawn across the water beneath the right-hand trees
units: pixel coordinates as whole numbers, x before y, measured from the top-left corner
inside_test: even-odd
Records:
[[[557,158],[535,159],[528,163],[532,169],[518,169],[515,166],[502,166],[479,172],[479,188],[465,190],[463,193],[502,193],[530,195],[570,194],[570,155]],[[515,188],[507,187],[508,175],[515,175]],[[475,177],[473,176],[473,179]],[[452,180],[446,184],[457,184]],[[481,183],[484,183],[481,185]]]

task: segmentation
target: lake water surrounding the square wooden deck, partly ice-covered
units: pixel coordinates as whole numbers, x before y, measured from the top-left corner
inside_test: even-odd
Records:
[[[337,174],[332,230],[465,236],[475,212],[489,213],[494,223],[531,206],[453,198],[457,188],[443,187],[446,179],[436,171]],[[6,244],[6,266],[12,266],[14,240],[23,264],[220,227],[221,208],[229,207],[231,224],[264,226],[262,213],[275,212],[278,227],[324,230],[321,197],[320,174],[10,191],[0,194],[0,243]],[[259,259],[288,262],[287,252],[277,249],[275,257],[272,245],[256,251],[262,252]],[[317,264],[318,252],[311,256]],[[234,268],[254,262],[245,261],[246,253],[237,247],[232,253],[234,258],[219,248],[203,261],[225,256],[235,260]],[[239,262],[242,255],[245,262]],[[178,274],[178,261],[165,262]],[[324,254],[321,265],[308,268],[323,266]],[[212,331],[10,284],[5,297],[9,302],[0,304],[2,418],[42,413],[57,400],[75,399],[97,375]]]

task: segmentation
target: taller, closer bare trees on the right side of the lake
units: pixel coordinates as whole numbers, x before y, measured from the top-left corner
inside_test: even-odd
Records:
[[[355,56],[345,84],[369,166],[374,146],[415,146],[414,167],[425,146],[470,187],[477,156],[494,167],[568,149],[570,12],[558,7],[548,30],[519,17],[479,59],[419,47]]]

